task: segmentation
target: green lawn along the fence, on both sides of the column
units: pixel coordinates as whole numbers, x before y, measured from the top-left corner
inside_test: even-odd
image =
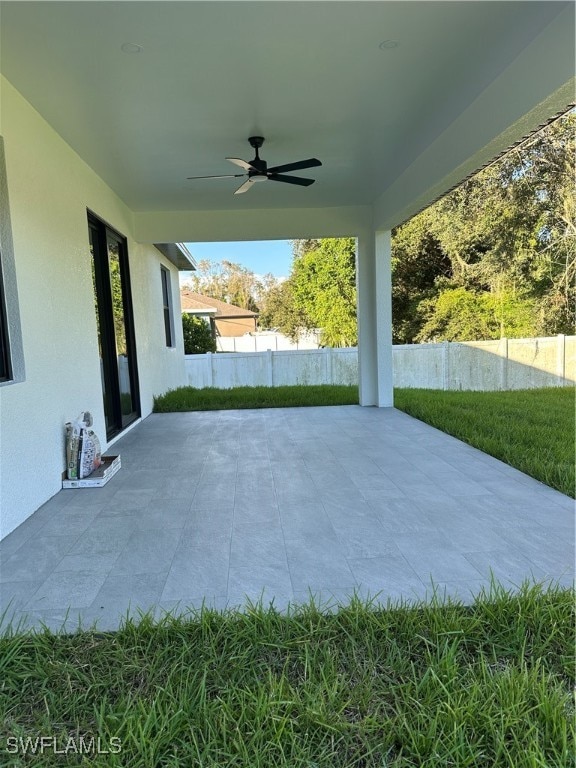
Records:
[[[574,496],[572,388],[513,392],[397,389],[394,396],[400,410]],[[357,387],[183,387],[156,397],[154,410],[158,413],[357,403]]]

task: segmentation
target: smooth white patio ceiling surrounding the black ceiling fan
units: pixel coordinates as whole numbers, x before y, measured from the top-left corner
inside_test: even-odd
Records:
[[[482,98],[489,125],[470,138],[467,157],[565,84],[573,9],[535,1],[0,2],[0,69],[134,211],[370,205]],[[397,47],[382,49],[388,40]],[[141,53],[123,53],[126,42]],[[546,83],[506,80],[520,60],[549,67]],[[240,172],[224,158],[250,160],[251,135],[266,138],[269,165],[319,158],[321,168],[299,172],[316,183],[269,182],[234,196],[242,179],[186,180]],[[461,164],[464,148],[451,158],[445,144],[411,195],[431,194]]]

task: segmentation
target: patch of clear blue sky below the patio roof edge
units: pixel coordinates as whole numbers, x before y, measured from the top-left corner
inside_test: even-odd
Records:
[[[292,246],[288,240],[264,240],[240,243],[186,243],[198,262],[232,261],[257,275],[271,272],[275,277],[288,277],[292,266]],[[181,282],[190,279],[191,272],[181,272]]]

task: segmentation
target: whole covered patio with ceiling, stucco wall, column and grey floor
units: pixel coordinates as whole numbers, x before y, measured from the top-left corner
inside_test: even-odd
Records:
[[[573,3],[0,4],[3,600],[114,624],[263,587],[468,594],[485,553],[562,575],[565,499],[392,410],[391,233],[573,105]],[[250,139],[313,172],[236,194]],[[187,383],[180,246],[324,237],[357,241],[367,410],[150,416]],[[58,492],[84,410],[123,468]]]

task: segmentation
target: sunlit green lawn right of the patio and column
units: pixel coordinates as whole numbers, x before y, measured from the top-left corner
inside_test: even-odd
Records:
[[[399,389],[395,405],[574,497],[574,390]]]

